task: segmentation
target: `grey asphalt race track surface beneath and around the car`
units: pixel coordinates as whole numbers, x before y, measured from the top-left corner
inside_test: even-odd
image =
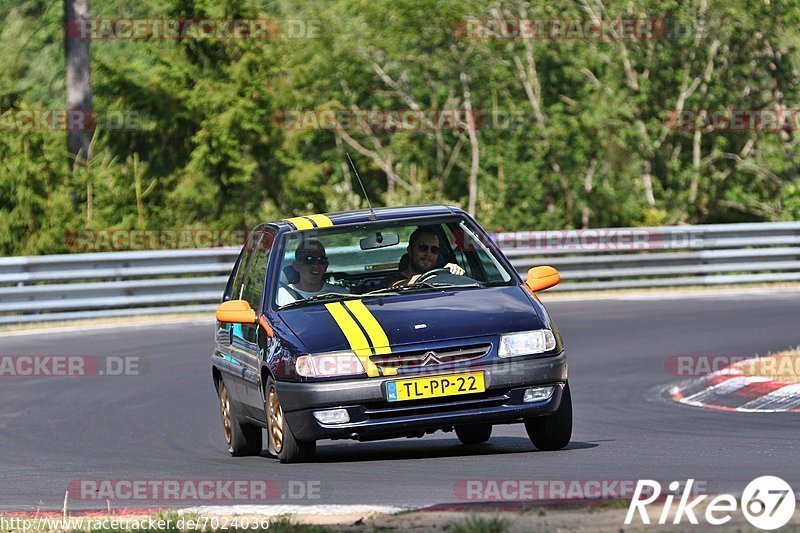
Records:
[[[488,444],[452,433],[372,443],[324,441],[313,464],[232,458],[209,357],[212,322],[0,337],[0,354],[139,356],[142,375],[0,378],[0,509],[59,509],[70,481],[248,479],[319,482],[299,504],[454,502],[465,479],[695,478],[740,492],[758,476],[800,487],[800,416],[706,411],[658,398],[679,378],[670,355],[737,355],[800,344],[800,292],[545,304],[566,340],[575,427],[539,452],[522,425]],[[0,334],[2,335],[2,334]],[[204,502],[205,503],[205,502]],[[230,502],[229,502],[230,503]],[[246,502],[245,502],[246,503]],[[277,503],[289,503],[281,502]],[[165,502],[115,502],[148,507]],[[166,502],[193,506],[198,502]],[[105,508],[75,501],[70,509]]]

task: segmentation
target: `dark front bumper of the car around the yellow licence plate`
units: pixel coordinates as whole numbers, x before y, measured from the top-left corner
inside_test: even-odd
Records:
[[[449,430],[458,424],[504,424],[554,412],[561,403],[567,380],[567,358],[561,352],[551,357],[511,359],[441,374],[466,370],[484,372],[485,392],[388,402],[387,382],[415,377],[392,376],[333,382],[279,382],[278,394],[292,433],[301,440],[422,436],[427,432]],[[554,385],[553,395],[541,402],[523,402],[525,389],[539,385]],[[314,418],[314,411],[334,407],[347,409],[350,421],[322,424]]]

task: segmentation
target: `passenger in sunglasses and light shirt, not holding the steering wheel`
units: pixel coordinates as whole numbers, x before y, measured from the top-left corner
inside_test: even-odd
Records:
[[[282,306],[296,300],[331,292],[350,294],[347,287],[332,285],[325,281],[328,256],[325,255],[325,247],[317,239],[300,241],[294,252],[292,268],[300,275],[300,279],[296,283],[290,283],[278,289],[278,305]]]

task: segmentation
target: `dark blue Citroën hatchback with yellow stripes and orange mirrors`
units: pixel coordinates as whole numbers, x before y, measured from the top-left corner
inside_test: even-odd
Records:
[[[572,433],[561,336],[526,280],[447,206],[262,224],[216,313],[214,385],[232,455],[310,460],[320,439],[422,437],[467,445],[522,422],[540,449]]]

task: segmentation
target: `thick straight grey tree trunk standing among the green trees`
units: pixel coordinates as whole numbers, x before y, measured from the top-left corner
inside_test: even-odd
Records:
[[[67,151],[71,154],[70,168],[92,157],[90,143],[94,130],[92,114],[92,78],[88,37],[81,38],[80,24],[89,18],[89,0],[64,0],[65,63],[67,110],[81,113],[67,128]],[[69,125],[69,122],[68,122]],[[80,160],[80,161],[79,161]]]

